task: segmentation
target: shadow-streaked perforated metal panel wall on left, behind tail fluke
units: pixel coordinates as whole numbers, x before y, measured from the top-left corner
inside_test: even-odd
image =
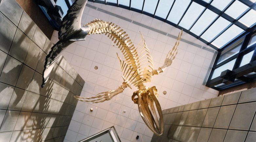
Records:
[[[64,57],[41,88],[53,45],[15,0],[0,1],[0,141],[63,141],[84,81]]]

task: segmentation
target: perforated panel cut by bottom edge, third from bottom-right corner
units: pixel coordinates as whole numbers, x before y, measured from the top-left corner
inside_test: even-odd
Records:
[[[208,142],[222,142],[226,132],[225,129],[212,129]]]

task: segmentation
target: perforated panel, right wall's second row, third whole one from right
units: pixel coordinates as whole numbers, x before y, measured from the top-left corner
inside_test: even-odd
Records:
[[[220,107],[208,108],[202,127],[213,127]]]

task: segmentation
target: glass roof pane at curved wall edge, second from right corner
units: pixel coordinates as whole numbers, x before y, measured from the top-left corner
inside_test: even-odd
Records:
[[[209,42],[222,30],[224,30],[229,24],[231,24],[229,21],[225,20],[222,17],[219,17],[219,19],[210,26],[210,28],[201,36],[201,38]]]

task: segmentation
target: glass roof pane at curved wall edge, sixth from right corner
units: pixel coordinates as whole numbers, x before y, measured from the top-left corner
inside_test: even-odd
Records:
[[[174,0],[160,0],[155,15],[165,19],[173,5],[173,2]]]

